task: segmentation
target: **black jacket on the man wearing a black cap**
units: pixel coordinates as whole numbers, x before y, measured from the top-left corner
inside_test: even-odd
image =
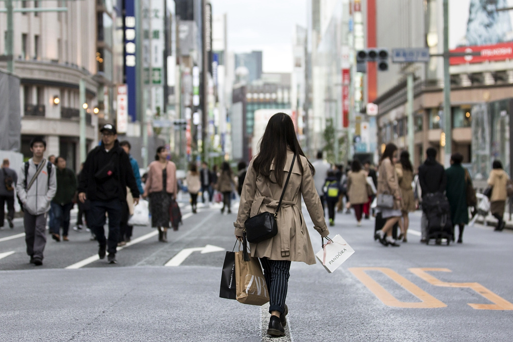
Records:
[[[102,197],[104,197],[102,195],[98,196],[96,193],[98,189],[102,189],[102,183],[105,184],[105,181],[102,182],[98,179],[98,172],[101,172],[105,167],[105,165],[101,163],[101,153],[104,153],[104,151],[105,146],[102,143],[102,145],[96,146],[91,152],[89,152],[86,162],[84,163],[84,168],[80,173],[78,192],[85,192],[87,199],[89,200],[101,200]],[[114,174],[108,182],[110,183],[114,180],[114,184],[117,187],[117,189],[115,189],[117,198],[121,201],[126,200],[127,187],[130,188],[130,192],[134,198],[139,198],[140,193],[139,189],[137,189],[137,183],[135,182],[130,159],[125,150],[120,147],[117,140],[112,148],[112,153]]]

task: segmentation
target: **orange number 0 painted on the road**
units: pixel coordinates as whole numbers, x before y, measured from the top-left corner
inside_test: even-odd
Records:
[[[383,302],[383,304],[396,307],[396,308],[417,308],[417,309],[426,309],[426,308],[445,308],[445,305],[442,301],[437,298],[431,296],[429,293],[425,292],[417,285],[411,283],[408,279],[402,277],[398,273],[392,271],[389,268],[385,267],[353,267],[350,268],[349,271],[354,274],[379,300]],[[396,297],[392,296],[387,290],[385,290],[378,282],[372,279],[365,271],[380,271],[394,280],[397,284],[401,285],[404,289],[409,291],[412,295],[416,296],[421,300],[421,302],[412,303],[407,301],[400,301]]]

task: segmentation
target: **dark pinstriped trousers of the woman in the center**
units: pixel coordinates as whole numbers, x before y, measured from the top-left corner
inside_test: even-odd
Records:
[[[288,260],[271,260],[260,258],[264,269],[265,282],[269,291],[269,313],[285,311],[285,299],[287,298],[288,278],[290,276],[290,264]]]

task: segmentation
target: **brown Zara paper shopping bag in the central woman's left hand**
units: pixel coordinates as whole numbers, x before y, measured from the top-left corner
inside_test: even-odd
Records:
[[[235,286],[237,300],[243,304],[262,306],[269,301],[269,291],[258,258],[244,261],[243,252],[235,252]]]

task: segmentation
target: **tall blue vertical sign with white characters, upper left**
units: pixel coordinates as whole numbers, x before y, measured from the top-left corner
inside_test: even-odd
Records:
[[[134,0],[125,0],[125,76],[128,96],[128,116],[130,121],[137,120],[135,105],[135,6]],[[118,95],[119,96],[119,95]],[[118,103],[119,113],[119,103]],[[128,117],[127,117],[128,119]],[[119,124],[118,124],[119,125]],[[118,129],[119,131],[119,129]]]

